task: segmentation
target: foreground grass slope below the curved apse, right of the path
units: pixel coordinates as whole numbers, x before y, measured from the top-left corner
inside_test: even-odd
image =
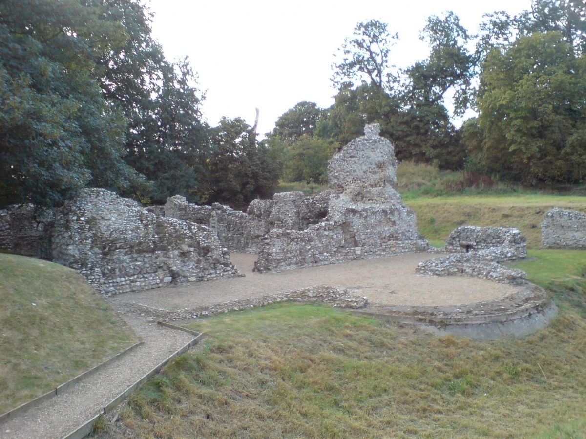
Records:
[[[320,305],[190,324],[205,348],[132,396],[122,419],[145,438],[584,437],[584,254],[533,251],[519,265],[540,283],[555,275],[560,306],[520,339],[437,337]]]

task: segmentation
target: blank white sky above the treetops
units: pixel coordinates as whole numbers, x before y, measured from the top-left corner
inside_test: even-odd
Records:
[[[222,116],[240,116],[257,132],[272,131],[277,118],[297,102],[327,108],[333,54],[356,23],[377,19],[399,33],[391,64],[408,67],[427,57],[418,39],[430,15],[454,11],[469,32],[483,13],[529,9],[530,0],[147,0],[152,30],[169,60],[189,56],[206,92],[202,111],[216,126]]]

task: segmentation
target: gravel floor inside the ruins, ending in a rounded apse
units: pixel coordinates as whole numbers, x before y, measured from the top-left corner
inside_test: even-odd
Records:
[[[328,285],[366,296],[372,304],[448,306],[489,301],[516,291],[516,287],[474,277],[415,274],[417,263],[437,256],[440,255],[405,253],[280,273],[255,273],[256,255],[231,253],[232,262],[245,277],[117,294],[110,301],[114,307],[117,302],[134,302],[176,311]]]

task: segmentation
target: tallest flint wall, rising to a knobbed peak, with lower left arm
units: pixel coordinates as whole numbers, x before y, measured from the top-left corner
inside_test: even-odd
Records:
[[[365,133],[328,164],[335,193],[327,194],[327,216],[305,229],[270,231],[263,239],[255,270],[294,269],[429,247],[417,232],[414,212],[392,187],[397,167],[393,145],[378,135],[376,125],[367,126]],[[324,201],[316,205],[322,208]]]

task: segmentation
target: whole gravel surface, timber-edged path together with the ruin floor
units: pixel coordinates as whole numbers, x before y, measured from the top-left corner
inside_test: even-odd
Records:
[[[261,274],[252,271],[255,255],[231,253],[234,264],[246,277],[118,294],[108,301],[117,310],[138,303],[173,311],[328,285],[366,296],[372,304],[445,306],[498,299],[516,290],[514,286],[472,277],[428,277],[414,273],[418,262],[434,256],[439,255],[408,253]],[[0,424],[0,439],[63,437],[193,338],[134,314],[121,315],[144,339],[144,344],[63,395]]]

